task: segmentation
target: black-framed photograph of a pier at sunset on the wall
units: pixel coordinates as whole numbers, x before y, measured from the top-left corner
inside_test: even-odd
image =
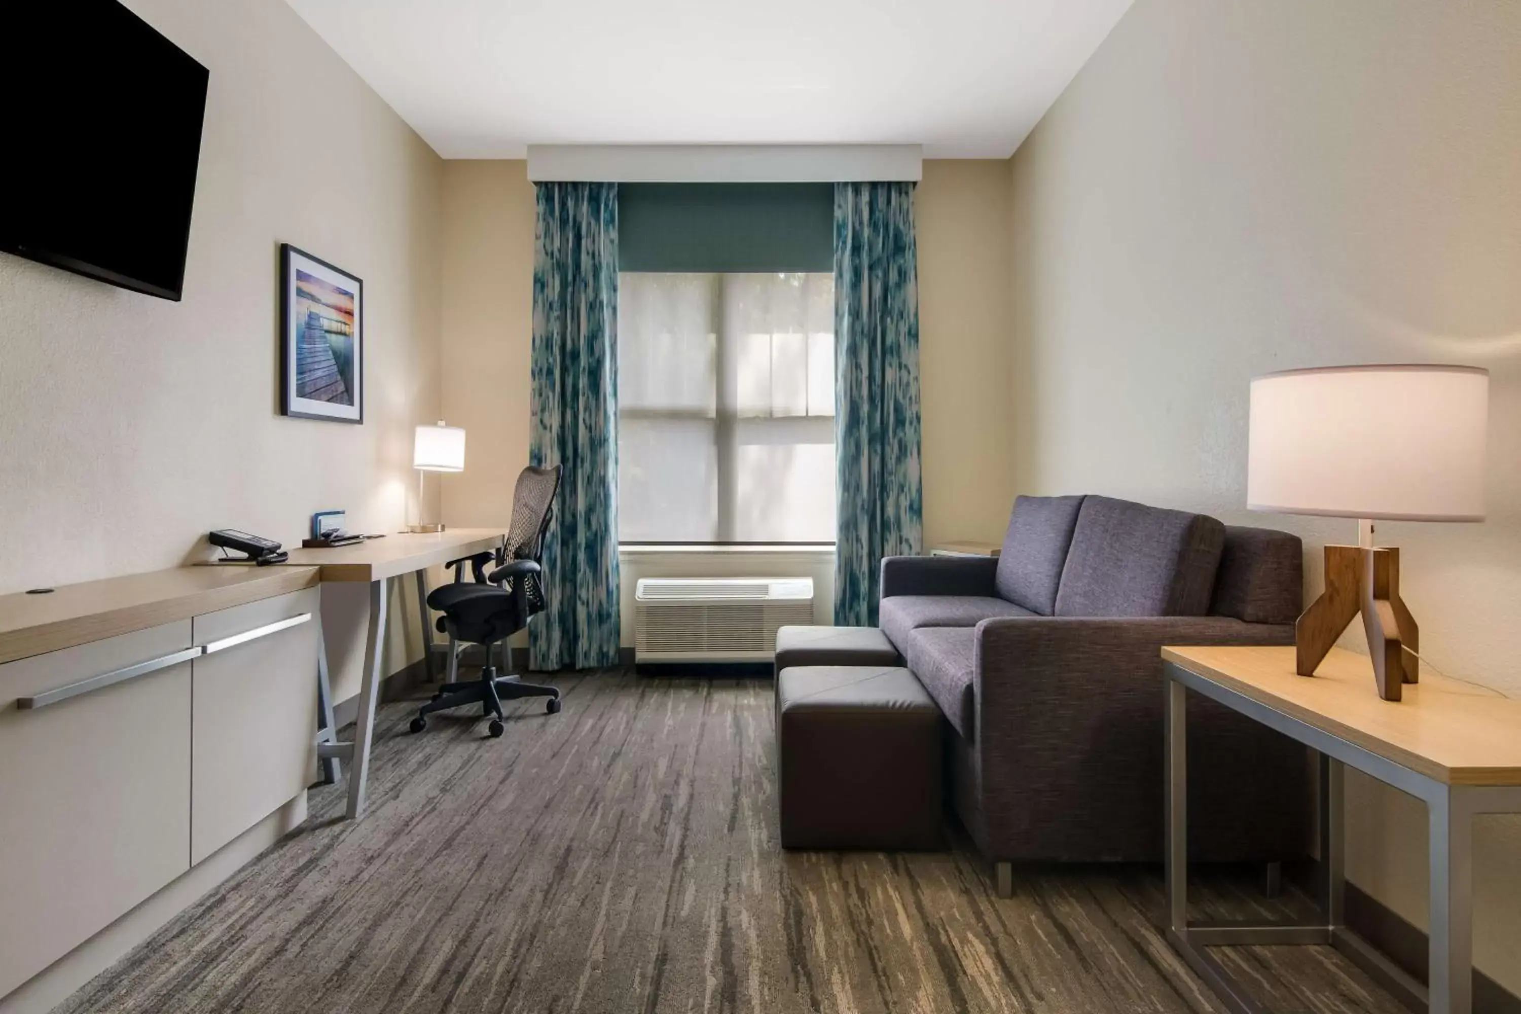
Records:
[[[365,283],[280,245],[280,412],[365,421]]]

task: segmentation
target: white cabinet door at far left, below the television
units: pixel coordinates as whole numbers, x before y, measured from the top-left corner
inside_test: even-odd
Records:
[[[0,996],[189,870],[189,649],[181,620],[0,666]]]

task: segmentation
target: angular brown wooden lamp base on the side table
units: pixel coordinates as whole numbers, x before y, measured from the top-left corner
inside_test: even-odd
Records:
[[[1342,631],[1363,614],[1378,696],[1398,701],[1421,678],[1421,629],[1399,597],[1399,550],[1326,546],[1326,590],[1294,623],[1294,667],[1316,675]]]

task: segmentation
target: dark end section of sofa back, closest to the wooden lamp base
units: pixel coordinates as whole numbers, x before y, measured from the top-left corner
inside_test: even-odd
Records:
[[[1247,623],[1293,623],[1305,602],[1303,567],[1297,535],[1227,524],[1209,611]]]

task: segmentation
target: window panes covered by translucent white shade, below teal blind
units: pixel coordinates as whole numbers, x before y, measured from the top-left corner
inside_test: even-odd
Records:
[[[830,272],[639,272],[618,293],[625,543],[835,540]]]

